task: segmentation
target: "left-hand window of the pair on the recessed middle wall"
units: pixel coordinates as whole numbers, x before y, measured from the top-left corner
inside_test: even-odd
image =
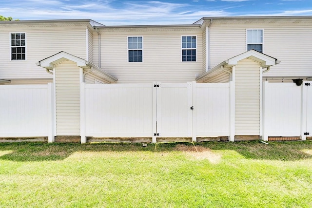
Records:
[[[143,62],[143,37],[128,37],[128,61]]]

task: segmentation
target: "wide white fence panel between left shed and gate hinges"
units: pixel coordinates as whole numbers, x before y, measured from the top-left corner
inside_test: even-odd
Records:
[[[86,136],[152,137],[152,84],[85,85]]]

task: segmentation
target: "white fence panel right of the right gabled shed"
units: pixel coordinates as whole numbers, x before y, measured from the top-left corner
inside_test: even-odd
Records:
[[[265,83],[264,136],[300,136],[301,87],[295,83]]]

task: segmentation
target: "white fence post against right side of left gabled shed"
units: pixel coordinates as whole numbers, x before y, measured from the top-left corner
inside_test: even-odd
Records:
[[[87,142],[86,126],[85,126],[85,83],[80,82],[80,138],[81,144]]]

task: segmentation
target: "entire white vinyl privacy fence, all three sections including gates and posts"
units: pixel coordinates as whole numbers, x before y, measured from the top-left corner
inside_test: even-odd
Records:
[[[54,85],[0,86],[0,137],[54,142]],[[70,97],[69,97],[70,99]],[[80,85],[81,142],[90,137],[235,135],[234,82]],[[262,139],[312,134],[312,82],[263,83]]]

